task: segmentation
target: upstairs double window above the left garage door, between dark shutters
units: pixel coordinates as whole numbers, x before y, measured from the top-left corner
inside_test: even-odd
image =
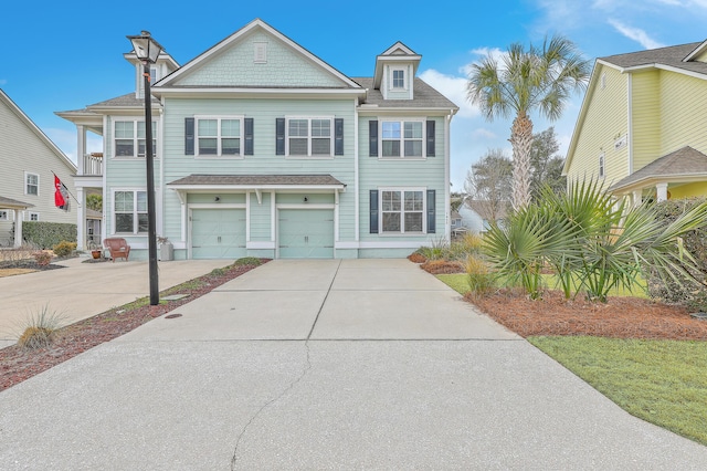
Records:
[[[241,121],[240,117],[197,117],[198,155],[240,157]]]

